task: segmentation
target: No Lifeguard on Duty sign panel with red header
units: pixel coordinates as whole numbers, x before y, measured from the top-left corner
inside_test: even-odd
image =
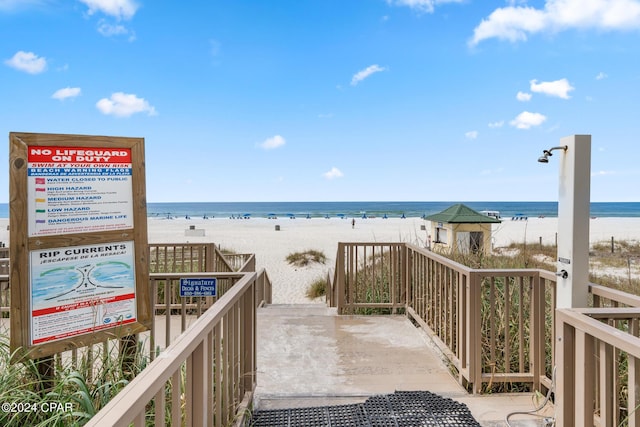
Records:
[[[131,149],[28,148],[29,236],[133,227]]]

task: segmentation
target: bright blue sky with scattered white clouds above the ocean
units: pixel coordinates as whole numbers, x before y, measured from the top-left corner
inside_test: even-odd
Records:
[[[640,0],[0,0],[0,38],[0,134],[144,137],[149,202],[552,201],[572,134],[640,201]]]

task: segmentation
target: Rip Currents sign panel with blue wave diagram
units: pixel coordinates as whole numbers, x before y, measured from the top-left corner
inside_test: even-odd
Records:
[[[31,344],[136,321],[133,242],[31,252]]]

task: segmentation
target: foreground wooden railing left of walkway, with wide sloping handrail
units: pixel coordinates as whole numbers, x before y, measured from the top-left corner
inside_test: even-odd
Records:
[[[264,274],[243,274],[86,425],[229,425],[255,388],[256,295]]]

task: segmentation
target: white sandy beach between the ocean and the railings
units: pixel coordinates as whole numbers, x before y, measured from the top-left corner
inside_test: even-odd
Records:
[[[493,246],[512,242],[554,244],[557,218],[503,219],[493,226]],[[8,219],[0,219],[0,242],[8,244]],[[280,230],[276,231],[276,225]],[[421,226],[425,226],[423,230]],[[194,234],[204,236],[188,236]],[[305,292],[315,279],[324,277],[335,264],[338,242],[409,242],[425,246],[430,223],[420,218],[251,218],[251,219],[158,219],[148,220],[149,243],[216,243],[236,253],[254,253],[258,268],[265,268],[273,282],[274,303],[308,303]],[[189,232],[187,231],[189,230]],[[191,232],[191,233],[190,233]],[[640,218],[595,218],[590,221],[591,243],[640,240]],[[322,251],[326,264],[294,267],[286,257],[308,249]]]

